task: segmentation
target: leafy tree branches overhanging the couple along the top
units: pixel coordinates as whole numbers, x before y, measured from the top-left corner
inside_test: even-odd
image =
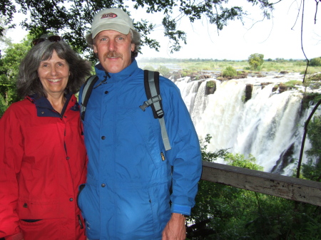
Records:
[[[271,0],[245,0],[258,6],[263,11],[263,17],[270,19],[270,12],[273,9]],[[274,1],[273,1],[274,2]],[[84,1],[84,0],[5,0],[0,4],[0,17],[6,18],[5,24],[14,28],[11,24],[16,4],[20,7],[19,12],[30,14],[31,22],[24,20],[21,24],[30,33],[41,36],[42,33],[55,32],[60,33],[68,43],[79,52],[86,50],[86,41],[84,36],[90,31],[90,24],[93,15],[100,9],[117,7],[128,12],[128,9],[144,9],[147,14],[157,12],[163,13],[162,25],[164,35],[171,41],[171,51],[179,51],[180,43],[186,43],[185,32],[178,29],[177,21],[182,17],[188,17],[191,23],[206,17],[210,24],[214,24],[218,31],[222,30],[228,24],[228,21],[238,19],[243,21],[243,16],[248,13],[243,11],[240,6],[231,6],[228,0],[101,0],[101,1]],[[178,12],[178,16],[173,14]],[[129,12],[128,12],[129,13]],[[11,25],[9,25],[11,24]],[[146,20],[134,21],[135,27],[142,34],[143,45],[151,46],[158,50],[159,43],[156,39],[151,39],[148,35],[153,31],[156,25]],[[0,36],[3,28],[0,28]]]

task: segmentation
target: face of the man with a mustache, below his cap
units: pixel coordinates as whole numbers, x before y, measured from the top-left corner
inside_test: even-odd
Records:
[[[95,37],[93,51],[97,53],[101,65],[108,73],[119,73],[131,65],[131,33],[127,35],[113,30],[105,30]]]

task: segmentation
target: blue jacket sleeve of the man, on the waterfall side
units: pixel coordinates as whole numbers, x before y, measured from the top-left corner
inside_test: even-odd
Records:
[[[190,215],[202,172],[200,142],[177,86],[170,80],[165,81],[161,85],[161,95],[165,125],[172,147],[166,152],[166,157],[173,166],[171,212]]]

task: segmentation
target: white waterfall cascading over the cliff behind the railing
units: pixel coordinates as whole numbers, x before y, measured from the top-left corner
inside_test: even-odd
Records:
[[[200,139],[212,136],[208,151],[252,154],[265,172],[290,175],[297,166],[305,120],[312,109],[302,110],[299,90],[275,88],[287,80],[302,81],[302,75],[273,73],[226,81],[186,77],[173,82],[180,88]],[[215,81],[210,91],[208,81]],[[309,148],[307,139],[305,150]],[[302,161],[307,161],[305,154]]]

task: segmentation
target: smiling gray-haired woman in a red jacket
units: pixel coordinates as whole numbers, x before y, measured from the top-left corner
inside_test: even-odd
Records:
[[[73,93],[91,66],[59,36],[33,43],[17,80],[26,97],[0,119],[0,238],[86,239],[76,198],[87,157]]]

